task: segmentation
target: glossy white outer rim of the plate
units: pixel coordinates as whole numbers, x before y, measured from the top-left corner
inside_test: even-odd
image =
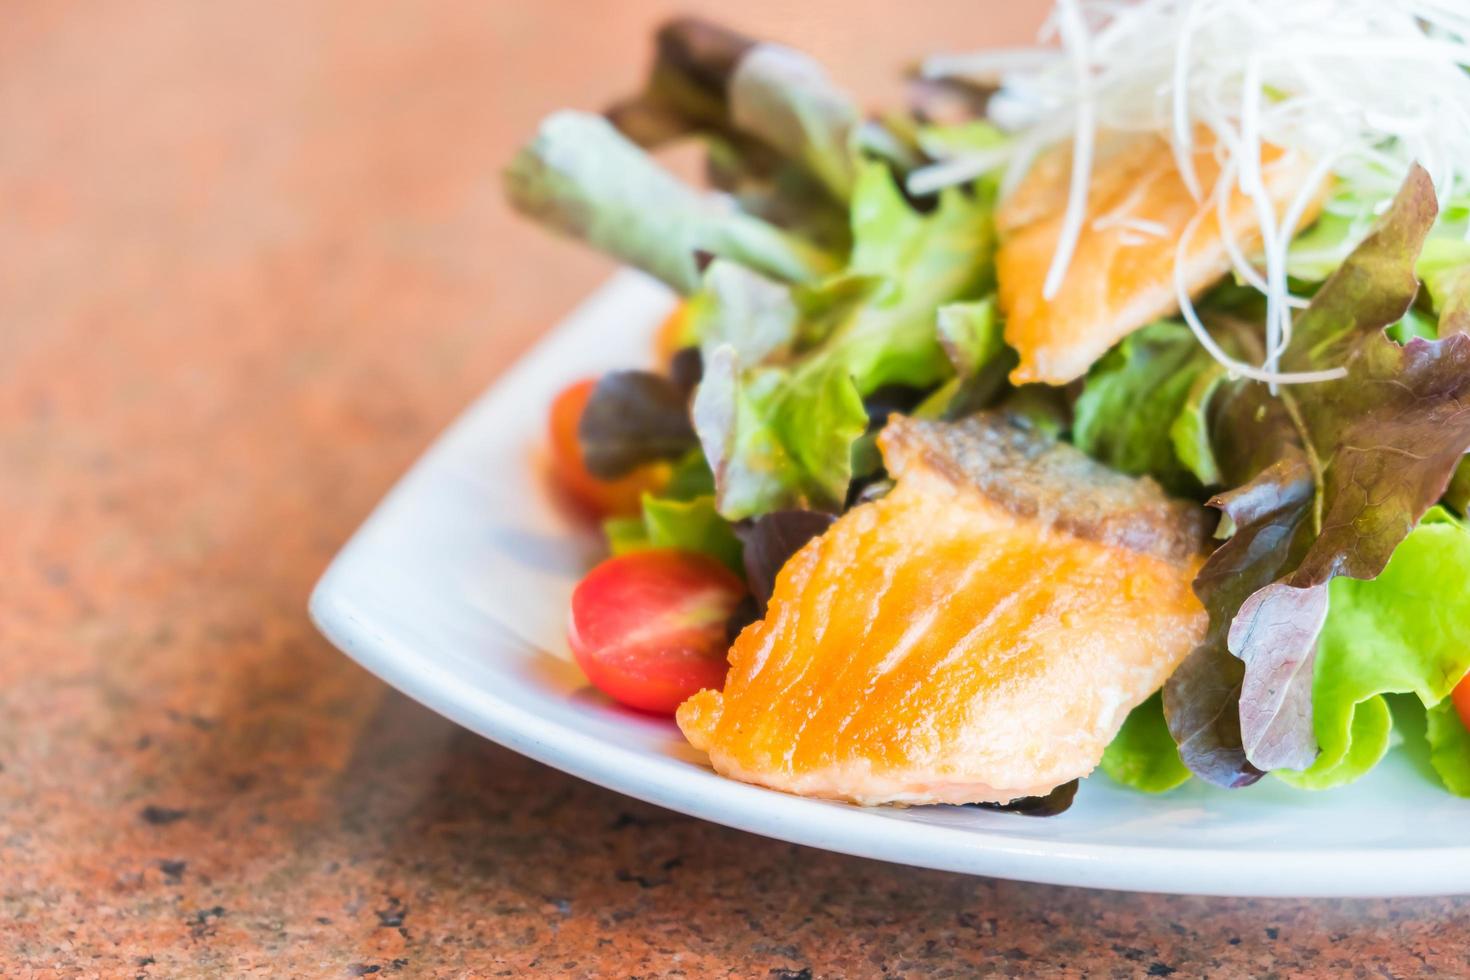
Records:
[[[576,325],[603,306],[647,303],[651,284],[620,270],[538,341],[456,419],[395,480],[332,558],[312,591],[309,613],[338,649],[431,711],[504,748],[604,789],[764,837],[854,857],[1044,884],[1242,898],[1391,898],[1470,893],[1470,843],[1430,848],[1169,848],[1028,839],[985,829],[883,820],[860,807],[751,786],[714,774],[648,765],[641,751],[557,724],[482,688],[459,683],[431,658],[373,627],[343,582],[359,551],[390,523],[415,485],[478,429],[516,382],[548,361]],[[510,641],[506,641],[507,645]],[[1147,796],[1141,796],[1147,799]],[[776,805],[772,807],[772,802]],[[732,807],[734,804],[734,807]],[[760,815],[767,810],[766,815]],[[1013,817],[1035,820],[1035,817]],[[1061,817],[1064,818],[1064,817]],[[875,833],[875,827],[881,833]],[[1413,874],[1405,874],[1413,867]],[[1332,868],[1324,874],[1324,868]]]

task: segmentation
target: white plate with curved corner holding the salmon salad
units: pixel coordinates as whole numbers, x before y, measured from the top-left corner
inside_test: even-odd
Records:
[[[312,616],[390,685],[488,739],[609,789],[831,851],[997,877],[1207,895],[1470,892],[1470,802],[1396,751],[1347,789],[1191,783],[1145,796],[1104,776],[1053,818],[848,807],[716,776],[669,723],[589,691],[566,652],[597,535],[542,475],[566,382],[645,360],[672,300],[620,273],[429,450],[332,563]]]

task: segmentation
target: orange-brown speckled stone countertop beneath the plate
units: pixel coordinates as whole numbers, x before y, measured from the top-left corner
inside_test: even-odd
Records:
[[[667,10],[9,6],[0,976],[1470,973],[1466,901],[1082,892],[676,817],[456,729],[315,633],[338,545],[606,275],[513,222],[495,170],[542,112],[632,85]],[[878,94],[916,51],[1038,16],[738,21]]]

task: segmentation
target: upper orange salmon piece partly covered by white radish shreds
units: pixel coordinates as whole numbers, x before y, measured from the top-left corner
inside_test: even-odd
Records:
[[[1064,385],[1086,373],[1110,347],[1141,326],[1179,309],[1175,253],[1185,228],[1200,215],[1188,242],[1185,282],[1197,297],[1230,272],[1211,190],[1220,165],[1205,140],[1194,154],[1204,203],[1195,201],[1158,135],[1101,134],[1088,210],[1067,275],[1055,298],[1042,287],[1061,238],[1072,148],[1041,157],[997,215],[1001,245],[995,254],[1005,341],[1020,354],[1016,383]],[[1267,147],[1263,179],[1282,216],[1310,176],[1299,154]],[[1299,228],[1316,220],[1326,187],[1302,215]],[[1230,191],[1226,219],[1241,251],[1260,248],[1254,203]],[[1145,231],[1147,229],[1147,231]]]

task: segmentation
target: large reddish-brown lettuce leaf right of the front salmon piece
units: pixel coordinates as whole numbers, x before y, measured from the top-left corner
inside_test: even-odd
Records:
[[[1283,367],[1344,364],[1345,378],[1279,398],[1245,381],[1217,395],[1216,451],[1239,489],[1211,502],[1233,535],[1195,580],[1205,642],[1164,688],[1180,757],[1208,782],[1244,786],[1311,764],[1327,582],[1376,577],[1470,447],[1470,335],[1399,347],[1383,332],[1414,300],[1435,213],[1433,185],[1414,167],[1298,317]]]

